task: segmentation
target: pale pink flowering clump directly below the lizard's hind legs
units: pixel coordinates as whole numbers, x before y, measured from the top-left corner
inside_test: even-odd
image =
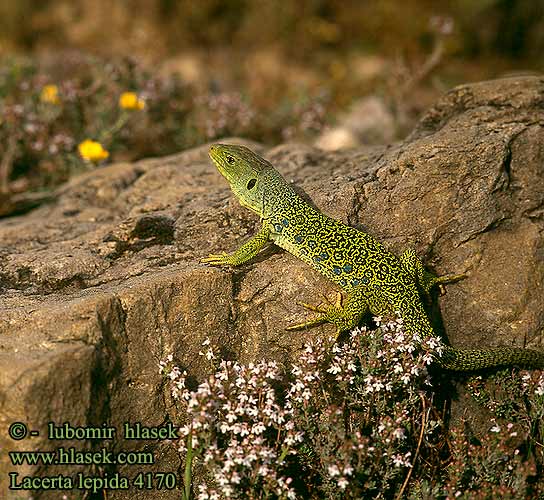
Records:
[[[378,330],[355,329],[344,343],[313,341],[291,370],[286,406],[314,453],[305,466],[316,469],[331,498],[335,491],[349,498],[393,491],[413,467],[415,431],[431,436],[440,426],[439,419],[414,418],[440,340],[406,333],[400,318],[376,322]]]

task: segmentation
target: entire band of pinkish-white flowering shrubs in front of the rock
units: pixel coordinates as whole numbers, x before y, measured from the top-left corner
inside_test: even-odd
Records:
[[[400,318],[375,323],[378,329],[355,329],[344,342],[307,343],[285,369],[221,361],[207,340],[200,354],[218,368],[194,391],[172,356],[161,362],[186,414],[177,443],[186,471],[194,465],[207,478],[194,485],[198,498],[544,493],[531,486],[544,458],[534,445],[544,435],[544,375],[504,374],[500,398],[482,377],[469,382],[495,415],[479,441],[468,423],[450,432],[433,406],[428,367],[442,353],[440,339],[406,332]],[[524,406],[514,400],[520,394]]]

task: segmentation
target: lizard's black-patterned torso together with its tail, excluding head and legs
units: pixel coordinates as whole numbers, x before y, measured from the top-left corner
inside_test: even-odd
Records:
[[[375,238],[319,212],[290,189],[283,192],[279,206],[270,206],[273,212],[267,214],[267,220],[271,239],[340,286],[348,301],[351,298],[352,308],[368,308],[375,316],[398,312],[408,332],[421,338],[435,335],[421,303],[414,271]],[[279,226],[281,231],[276,231]],[[436,362],[457,371],[515,364],[542,368],[544,353],[445,346]]]

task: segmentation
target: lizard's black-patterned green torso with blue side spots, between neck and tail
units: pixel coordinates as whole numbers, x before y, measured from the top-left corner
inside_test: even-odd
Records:
[[[284,196],[267,223],[274,243],[348,294],[362,292],[373,314],[401,311],[406,316],[410,311],[421,321],[413,276],[372,236],[327,217],[294,192]]]

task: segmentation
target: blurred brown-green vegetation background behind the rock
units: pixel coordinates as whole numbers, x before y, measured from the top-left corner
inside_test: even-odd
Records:
[[[388,142],[452,86],[539,73],[543,54],[542,0],[4,1],[0,194],[225,135]]]

